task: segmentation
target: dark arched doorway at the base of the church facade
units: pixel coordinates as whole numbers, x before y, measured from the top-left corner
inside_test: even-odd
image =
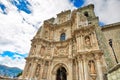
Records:
[[[60,67],[56,73],[56,80],[67,80],[67,71],[64,67]]]

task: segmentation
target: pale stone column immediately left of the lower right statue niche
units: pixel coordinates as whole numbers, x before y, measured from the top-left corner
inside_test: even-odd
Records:
[[[83,59],[83,65],[84,65],[84,78],[85,78],[84,80],[89,80],[89,77],[88,77],[88,63],[87,63],[86,55],[83,55],[82,59]]]

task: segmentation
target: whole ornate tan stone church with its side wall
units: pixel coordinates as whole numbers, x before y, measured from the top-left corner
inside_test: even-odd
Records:
[[[104,74],[116,64],[109,40],[120,61],[120,23],[98,23],[92,4],[45,20],[31,40],[22,78],[104,80]]]

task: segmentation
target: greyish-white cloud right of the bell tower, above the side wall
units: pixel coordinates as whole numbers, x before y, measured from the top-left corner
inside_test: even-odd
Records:
[[[105,24],[120,22],[120,0],[85,0],[95,5],[95,13]]]

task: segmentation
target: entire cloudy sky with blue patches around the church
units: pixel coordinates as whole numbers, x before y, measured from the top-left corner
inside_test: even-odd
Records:
[[[120,22],[120,0],[0,0],[0,64],[23,69],[44,20],[91,3],[101,25]]]

